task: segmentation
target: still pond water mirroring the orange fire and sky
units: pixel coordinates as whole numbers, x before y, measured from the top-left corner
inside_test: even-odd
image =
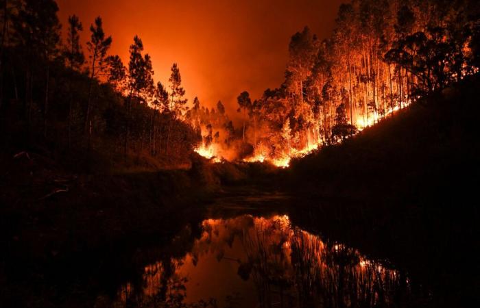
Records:
[[[119,287],[115,307],[392,307],[410,293],[386,261],[283,214],[206,219],[139,259],[149,261]]]

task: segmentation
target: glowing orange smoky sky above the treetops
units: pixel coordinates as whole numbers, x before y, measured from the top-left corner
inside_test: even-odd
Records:
[[[308,25],[330,36],[341,0],[57,0],[60,21],[77,14],[83,39],[95,16],[112,35],[111,54],[128,61],[139,35],[152,55],[156,81],[167,84],[177,62],[189,101],[219,99],[232,111],[243,90],[259,97],[283,81],[290,37]],[[65,26],[66,28],[66,26]],[[84,51],[86,48],[84,47]]]

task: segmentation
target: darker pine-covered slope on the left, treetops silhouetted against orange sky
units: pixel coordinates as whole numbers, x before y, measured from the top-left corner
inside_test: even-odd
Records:
[[[112,36],[101,17],[84,34],[82,21],[70,16],[62,41],[55,1],[1,6],[0,120],[7,148],[33,147],[88,165],[185,162],[199,136],[184,120],[177,64],[167,88],[154,83],[141,38],[133,38],[126,66],[108,53]],[[89,36],[86,47],[82,35]]]

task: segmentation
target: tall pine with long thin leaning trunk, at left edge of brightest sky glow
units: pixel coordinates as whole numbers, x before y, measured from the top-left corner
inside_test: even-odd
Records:
[[[92,88],[93,81],[101,73],[104,72],[104,62],[106,61],[106,56],[108,49],[112,45],[112,37],[105,36],[103,23],[101,17],[98,16],[95,18],[95,24],[90,26],[91,38],[86,43],[88,52],[90,55],[90,82],[88,83],[88,97],[86,101],[86,112],[85,112],[85,132],[88,133],[88,140],[91,136],[91,123],[90,123],[90,114],[91,114],[91,100],[92,100]],[[88,142],[90,144],[90,142]]]

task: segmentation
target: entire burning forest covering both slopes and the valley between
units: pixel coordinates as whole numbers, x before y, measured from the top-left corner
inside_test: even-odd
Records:
[[[2,146],[88,166],[176,168],[193,149],[217,161],[287,166],[480,68],[477,1],[353,0],[339,8],[331,38],[308,27],[293,35],[283,84],[258,99],[242,92],[229,116],[221,101],[189,104],[177,64],[168,85],[156,83],[138,36],[128,63],[110,55],[101,17],[85,31],[70,16],[62,35],[53,0],[1,7]]]

